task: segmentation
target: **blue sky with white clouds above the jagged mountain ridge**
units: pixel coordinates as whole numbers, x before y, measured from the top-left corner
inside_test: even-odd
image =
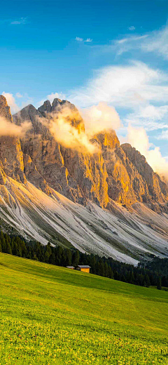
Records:
[[[167,20],[167,0],[3,1],[0,93],[13,113],[55,97],[104,103],[120,141],[167,168]]]

